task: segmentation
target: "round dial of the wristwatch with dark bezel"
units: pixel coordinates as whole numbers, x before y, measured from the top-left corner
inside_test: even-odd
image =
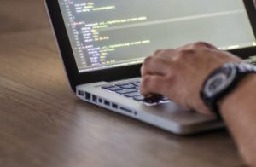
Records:
[[[210,98],[226,89],[236,77],[236,72],[236,67],[230,64],[226,64],[218,68],[215,72],[212,72],[212,75],[207,79],[207,83],[204,87],[204,92],[207,97]]]

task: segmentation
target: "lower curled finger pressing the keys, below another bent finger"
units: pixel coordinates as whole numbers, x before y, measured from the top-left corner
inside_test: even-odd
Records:
[[[140,84],[140,92],[142,95],[150,95],[150,94],[166,94],[166,78],[161,77],[159,75],[146,75],[142,78]]]

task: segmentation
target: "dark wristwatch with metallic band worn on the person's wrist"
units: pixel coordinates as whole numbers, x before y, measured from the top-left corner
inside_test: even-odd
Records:
[[[218,101],[228,95],[248,73],[256,72],[256,66],[247,63],[225,63],[207,77],[200,91],[201,100],[209,110],[221,118]]]

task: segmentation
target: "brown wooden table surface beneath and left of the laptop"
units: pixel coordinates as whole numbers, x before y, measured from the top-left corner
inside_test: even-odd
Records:
[[[79,101],[42,1],[0,5],[0,166],[241,166],[226,130],[188,137]]]

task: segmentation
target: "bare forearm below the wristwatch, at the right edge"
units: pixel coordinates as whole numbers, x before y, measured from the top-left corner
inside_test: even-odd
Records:
[[[244,78],[238,87],[220,101],[219,107],[242,157],[256,165],[256,75]]]

